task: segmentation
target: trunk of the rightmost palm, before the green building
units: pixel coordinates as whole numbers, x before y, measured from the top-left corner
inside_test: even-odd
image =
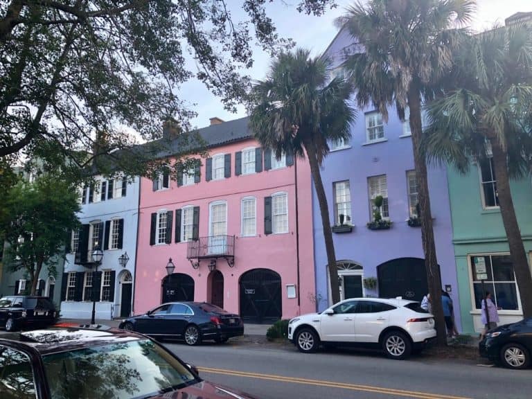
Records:
[[[510,247],[510,258],[513,263],[515,279],[517,280],[517,287],[519,287],[523,317],[532,317],[532,274],[528,260],[526,260],[521,231],[519,224],[517,224],[517,217],[513,207],[506,152],[496,140],[492,140],[492,151],[493,167],[497,181],[497,197],[499,198],[508,247]]]

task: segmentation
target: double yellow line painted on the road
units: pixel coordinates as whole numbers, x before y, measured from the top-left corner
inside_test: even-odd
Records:
[[[427,392],[418,392],[418,391],[405,391],[405,390],[402,390],[402,389],[390,389],[390,388],[374,387],[372,385],[346,384],[344,382],[333,382],[333,381],[323,381],[323,380],[309,380],[308,378],[285,377],[284,375],[249,373],[247,371],[212,369],[210,367],[198,367],[197,369],[199,371],[202,371],[203,373],[224,374],[224,375],[232,375],[232,376],[245,377],[245,378],[257,378],[258,380],[272,380],[272,381],[281,381],[281,382],[292,382],[294,384],[317,385],[319,387],[350,389],[352,391],[365,391],[365,392],[372,392],[372,393],[384,393],[384,394],[387,394],[387,395],[407,396],[408,398],[418,398],[418,399],[469,399],[469,398],[464,398],[463,396],[449,396],[449,395],[440,395],[440,394],[437,394],[437,393],[427,393]]]

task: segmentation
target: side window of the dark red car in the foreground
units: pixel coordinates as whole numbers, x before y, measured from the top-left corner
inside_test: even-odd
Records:
[[[0,345],[0,398],[35,399],[28,355]]]

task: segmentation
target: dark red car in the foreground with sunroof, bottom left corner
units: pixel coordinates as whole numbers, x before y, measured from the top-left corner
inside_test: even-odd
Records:
[[[0,398],[242,398],[199,378],[152,339],[106,328],[48,328],[0,339]]]

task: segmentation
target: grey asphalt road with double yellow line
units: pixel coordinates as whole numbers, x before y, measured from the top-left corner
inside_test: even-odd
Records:
[[[202,378],[259,399],[532,398],[532,369],[414,357],[389,360],[357,351],[304,354],[292,346],[167,344]]]

